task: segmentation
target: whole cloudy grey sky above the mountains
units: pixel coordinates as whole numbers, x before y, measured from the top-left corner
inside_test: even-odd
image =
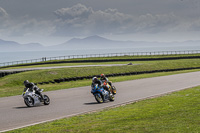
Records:
[[[0,39],[56,45],[74,37],[200,40],[199,0],[0,0]]]

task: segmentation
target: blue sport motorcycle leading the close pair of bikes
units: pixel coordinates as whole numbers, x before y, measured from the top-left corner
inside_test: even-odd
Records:
[[[98,86],[98,84],[96,84],[92,89],[91,89],[91,93],[94,95],[96,101],[98,103],[103,103],[105,101],[114,101],[115,97],[112,93],[109,93],[107,90],[105,90],[102,86]]]

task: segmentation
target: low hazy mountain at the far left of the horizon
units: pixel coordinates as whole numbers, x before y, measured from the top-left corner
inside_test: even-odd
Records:
[[[0,52],[8,51],[35,51],[44,48],[39,43],[20,44],[14,41],[5,41],[0,39]]]

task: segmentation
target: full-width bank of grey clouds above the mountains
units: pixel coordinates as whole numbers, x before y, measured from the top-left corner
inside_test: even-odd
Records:
[[[54,20],[33,18],[30,14],[13,17],[0,7],[0,35],[73,37],[200,31],[199,18],[183,17],[173,10],[128,14],[113,8],[95,10],[79,3],[53,13]]]

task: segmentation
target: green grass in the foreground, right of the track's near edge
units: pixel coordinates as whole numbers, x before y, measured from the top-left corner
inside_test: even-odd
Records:
[[[47,122],[13,133],[123,132],[193,133],[200,131],[200,87],[126,106]]]

